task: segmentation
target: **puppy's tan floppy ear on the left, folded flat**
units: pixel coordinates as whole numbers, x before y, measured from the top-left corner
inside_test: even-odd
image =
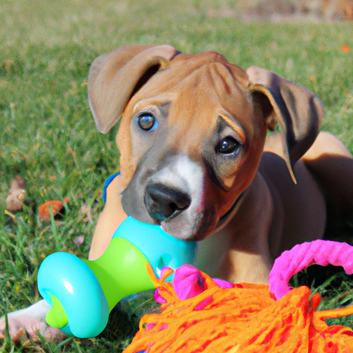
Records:
[[[97,129],[108,132],[132,95],[178,53],[166,45],[126,46],[95,59],[88,75],[88,99]]]

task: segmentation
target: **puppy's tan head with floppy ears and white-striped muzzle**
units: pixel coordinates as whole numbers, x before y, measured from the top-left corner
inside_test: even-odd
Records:
[[[267,130],[279,125],[292,167],[323,115],[314,94],[261,68],[246,72],[216,52],[124,47],[97,58],[88,93],[101,132],[122,115],[122,203],[127,214],[200,240],[251,183]]]

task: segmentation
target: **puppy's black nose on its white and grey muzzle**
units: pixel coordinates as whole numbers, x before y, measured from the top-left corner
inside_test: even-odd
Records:
[[[165,221],[177,216],[190,206],[190,196],[180,190],[163,184],[149,184],[145,190],[145,206],[150,216],[156,221]]]

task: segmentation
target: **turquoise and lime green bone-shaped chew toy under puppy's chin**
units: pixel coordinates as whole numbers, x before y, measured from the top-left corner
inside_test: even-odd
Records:
[[[97,336],[121,299],[154,288],[148,267],[159,275],[166,265],[175,269],[192,264],[195,256],[195,242],[174,238],[159,225],[141,223],[129,216],[99,259],[88,261],[67,252],[56,252],[44,259],[38,288],[51,305],[46,321],[68,335]]]

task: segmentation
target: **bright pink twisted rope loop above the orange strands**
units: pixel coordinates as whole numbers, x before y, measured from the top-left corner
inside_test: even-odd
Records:
[[[353,246],[327,240],[295,245],[274,261],[268,276],[270,292],[277,300],[281,299],[292,290],[288,285],[291,277],[314,264],[342,266],[347,274],[353,274]]]

